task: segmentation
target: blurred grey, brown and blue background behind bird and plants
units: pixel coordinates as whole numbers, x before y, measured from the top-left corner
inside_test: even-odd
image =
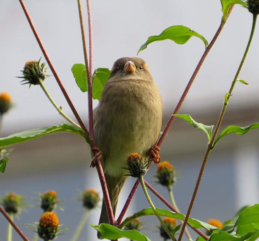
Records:
[[[77,1],[26,0],[26,7],[47,53],[71,100],[87,125],[87,94],[77,87],[71,67],[84,63]],[[184,25],[211,41],[221,22],[220,1],[90,1],[93,30],[93,70],[111,68],[120,57],[134,57],[149,36],[159,35],[172,25]],[[82,1],[86,33],[87,8]],[[0,93],[7,91],[14,107],[3,116],[1,136],[41,126],[59,125],[65,121],[56,112],[39,86],[20,85],[20,70],[28,60],[38,60],[42,55],[33,36],[19,1],[0,1]],[[190,114],[197,122],[215,125],[223,97],[234,78],[251,30],[252,14],[237,5],[233,8],[215,45],[200,69],[179,113]],[[259,122],[258,43],[259,32],[255,30],[250,51],[239,75],[249,85],[239,82],[230,98],[221,129],[227,125],[248,126]],[[165,40],[150,44],[140,52],[149,65],[163,99],[164,129],[182,92],[185,89],[205,47],[192,37],[185,45]],[[42,58],[42,62],[44,62]],[[51,74],[47,70],[47,74]],[[73,114],[53,76],[44,81],[53,99],[72,119]],[[94,100],[94,107],[98,104]],[[209,156],[191,217],[201,221],[209,218],[221,222],[233,217],[245,204],[259,202],[258,189],[258,130],[245,135],[231,134],[224,137]],[[169,161],[180,171],[179,180],[173,188],[176,203],[186,213],[197,180],[200,165],[206,151],[207,137],[187,122],[176,119],[163,144],[161,160]],[[65,200],[57,210],[60,224],[68,227],[68,234],[58,239],[70,240],[82,216],[79,202],[73,200],[77,190],[96,188],[101,195],[97,171],[89,168],[90,152],[83,138],[70,133],[41,137],[34,141],[17,144],[8,156],[9,163],[0,175],[0,196],[15,192],[26,196],[27,202],[36,204],[31,197],[35,192],[56,190],[58,198]],[[145,176],[153,183],[156,166],[152,165]],[[117,216],[136,180],[128,178],[117,206]],[[167,190],[155,188],[167,199]],[[152,193],[150,196],[158,208],[166,208]],[[100,203],[101,206],[101,203]],[[126,216],[148,207],[140,187],[134,196]],[[89,222],[98,224],[100,209],[91,212],[80,240],[97,240],[96,231]],[[25,223],[38,222],[40,208],[28,208],[15,222],[32,239],[34,233]],[[144,217],[144,234],[151,240],[162,240],[156,218]],[[154,231],[155,230],[155,231]],[[7,221],[0,216],[0,240],[6,240]],[[192,238],[197,234],[191,231]],[[184,239],[186,237],[184,236]],[[21,240],[14,233],[14,240]],[[126,240],[126,239],[125,239]]]

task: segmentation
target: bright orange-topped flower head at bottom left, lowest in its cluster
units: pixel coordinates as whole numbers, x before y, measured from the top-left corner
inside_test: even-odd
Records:
[[[54,212],[45,212],[38,223],[38,235],[44,241],[53,240],[58,231],[59,219]]]

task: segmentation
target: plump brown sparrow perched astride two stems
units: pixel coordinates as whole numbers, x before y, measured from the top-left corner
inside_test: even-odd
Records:
[[[119,193],[125,183],[127,156],[153,156],[162,122],[162,100],[143,59],[123,57],[115,61],[98,106],[93,110],[94,150],[101,153],[101,165],[115,216]],[[94,159],[93,159],[94,160]],[[104,199],[99,224],[108,223]]]

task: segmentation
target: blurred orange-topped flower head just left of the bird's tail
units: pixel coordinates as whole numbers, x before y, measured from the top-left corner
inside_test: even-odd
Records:
[[[76,197],[76,200],[82,202],[86,209],[90,210],[98,205],[100,197],[95,189],[88,188],[84,192],[79,191],[79,194],[80,196]]]

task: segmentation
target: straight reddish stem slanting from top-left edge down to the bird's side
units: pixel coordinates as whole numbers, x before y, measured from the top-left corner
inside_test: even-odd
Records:
[[[61,80],[59,79],[59,76],[58,76],[58,74],[56,73],[56,70],[54,69],[54,67],[53,67],[53,65],[52,65],[52,63],[51,63],[50,58],[48,57],[46,50],[45,50],[45,48],[44,48],[43,45],[42,45],[41,39],[39,38],[38,33],[36,32],[36,29],[35,29],[35,27],[34,27],[34,25],[33,25],[33,23],[32,23],[32,20],[31,20],[31,18],[30,18],[30,16],[29,16],[29,13],[28,13],[27,9],[25,8],[25,5],[24,5],[24,3],[23,3],[23,0],[19,0],[19,1],[20,1],[20,4],[21,4],[22,8],[23,8],[24,14],[25,14],[25,16],[26,16],[26,18],[27,18],[27,20],[28,20],[28,22],[29,22],[29,25],[31,26],[32,32],[33,32],[33,34],[34,34],[34,36],[35,36],[35,38],[36,38],[36,40],[37,40],[37,42],[38,42],[38,45],[40,46],[41,51],[42,51],[42,53],[43,53],[43,55],[44,55],[44,57],[45,57],[45,59],[46,59],[48,65],[49,65],[49,67],[50,67],[50,70],[51,70],[51,72],[53,73],[53,76],[55,77],[55,79],[56,79],[56,81],[57,81],[57,83],[58,83],[58,85],[59,85],[59,88],[61,89],[62,93],[64,94],[64,96],[65,96],[65,98],[66,98],[66,100],[67,100],[67,102],[68,102],[68,105],[69,105],[69,107],[71,108],[71,110],[72,110],[74,116],[76,117],[76,119],[77,119],[79,125],[81,126],[81,128],[83,129],[83,131],[88,135],[88,137],[90,137],[89,132],[87,131],[87,129],[86,129],[86,127],[85,127],[83,121],[81,120],[80,116],[79,116],[78,113],[77,113],[77,110],[75,109],[74,105],[72,104],[72,101],[70,100],[67,91],[65,90],[64,86],[62,85],[62,82],[61,82]]]

